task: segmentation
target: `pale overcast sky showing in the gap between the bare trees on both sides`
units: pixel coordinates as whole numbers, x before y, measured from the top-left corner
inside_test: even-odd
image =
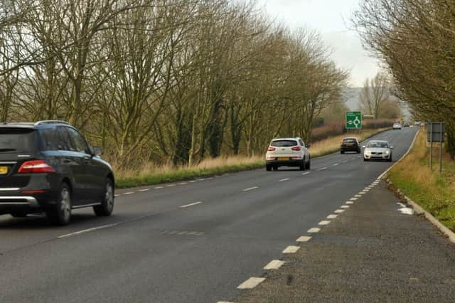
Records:
[[[340,68],[350,70],[350,86],[361,87],[378,73],[378,63],[363,50],[360,38],[349,31],[349,17],[360,0],[257,0],[258,6],[291,28],[305,26],[321,34]],[[347,24],[346,24],[347,23]]]

